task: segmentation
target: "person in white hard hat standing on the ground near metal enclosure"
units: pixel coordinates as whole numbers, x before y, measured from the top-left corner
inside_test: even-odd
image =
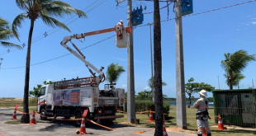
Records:
[[[201,90],[199,91],[199,96],[200,98],[194,103],[194,107],[197,108],[197,135],[202,136],[203,128],[205,128],[207,136],[211,136],[211,130],[208,122],[208,119],[211,120],[211,118],[208,113],[208,100],[206,98],[207,92],[205,90]]]

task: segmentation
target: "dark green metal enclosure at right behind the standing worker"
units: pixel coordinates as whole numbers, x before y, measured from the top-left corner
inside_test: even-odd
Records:
[[[256,90],[213,91],[215,116],[220,114],[223,124],[255,127],[255,94]]]

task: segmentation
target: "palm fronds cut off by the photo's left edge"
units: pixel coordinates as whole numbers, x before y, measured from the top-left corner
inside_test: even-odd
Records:
[[[14,35],[12,34],[12,30],[9,28],[9,22],[0,18],[0,45],[7,48],[16,48],[23,49],[20,45],[16,45],[7,41],[2,40],[10,40]]]

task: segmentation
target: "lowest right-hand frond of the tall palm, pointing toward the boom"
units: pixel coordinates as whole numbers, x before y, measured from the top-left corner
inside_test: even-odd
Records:
[[[51,17],[51,16],[46,16],[44,14],[40,14],[41,19],[45,22],[46,25],[48,26],[59,26],[61,28],[64,28],[65,30],[69,30],[68,26],[66,26],[64,23],[56,20],[55,18]],[[71,30],[69,30],[71,31]]]

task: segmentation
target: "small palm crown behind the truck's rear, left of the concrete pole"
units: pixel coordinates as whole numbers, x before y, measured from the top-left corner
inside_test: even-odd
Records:
[[[110,82],[110,84],[113,84],[113,82],[118,80],[121,73],[125,71],[126,70],[122,66],[118,65],[118,63],[111,63],[107,67],[107,81]]]

